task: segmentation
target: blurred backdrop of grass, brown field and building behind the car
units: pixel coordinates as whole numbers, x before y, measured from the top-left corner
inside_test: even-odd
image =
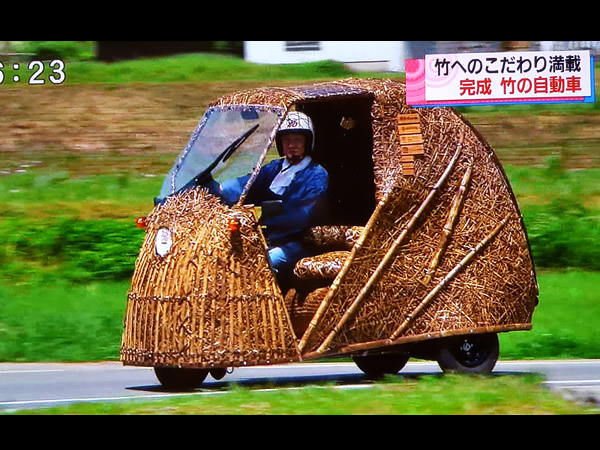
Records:
[[[216,97],[403,81],[432,53],[581,49],[600,41],[0,41],[0,361],[118,358],[135,218]],[[31,61],[44,84],[27,83]],[[501,335],[501,358],[600,357],[599,108],[459,108],[506,169],[538,270],[534,329]]]

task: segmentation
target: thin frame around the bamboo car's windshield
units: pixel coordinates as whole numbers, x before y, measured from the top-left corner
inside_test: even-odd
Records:
[[[279,127],[283,121],[283,118],[285,117],[285,115],[287,113],[287,109],[282,106],[262,105],[262,104],[226,104],[226,105],[217,105],[217,106],[212,106],[212,107],[207,108],[207,110],[205,111],[204,115],[202,116],[200,122],[198,123],[198,125],[196,126],[194,131],[192,132],[188,143],[186,144],[184,149],[180,152],[177,159],[175,160],[175,162],[169,169],[169,172],[166,175],[166,179],[165,179],[165,181],[163,181],[163,186],[161,187],[159,196],[161,196],[163,198],[167,198],[167,197],[169,197],[171,195],[175,195],[179,192],[177,190],[177,182],[176,182],[177,174],[179,173],[181,168],[184,167],[186,158],[188,157],[188,155],[194,148],[194,145],[196,144],[203,129],[205,128],[206,124],[208,123],[209,119],[211,118],[211,116],[213,114],[223,113],[223,112],[226,113],[229,111],[243,112],[243,111],[248,111],[248,110],[254,110],[259,113],[260,112],[273,113],[277,116],[277,120],[275,121],[275,125],[273,126],[273,129],[269,133],[269,137],[264,144],[264,148],[262,149],[262,151],[259,154],[256,164],[253,166],[251,171],[247,172],[247,174],[250,174],[250,179],[244,186],[244,189],[239,198],[239,201],[237,202],[237,203],[243,203],[250,186],[256,179],[256,176],[258,175],[258,172],[260,171],[260,169],[264,163],[267,153],[275,140],[275,135],[277,133],[277,130],[279,129]],[[200,173],[202,171],[202,169],[203,169],[202,167],[198,167],[198,173]],[[169,187],[170,187],[169,193],[165,192],[165,185],[167,182],[169,183]],[[181,190],[181,188],[180,188],[180,190]]]

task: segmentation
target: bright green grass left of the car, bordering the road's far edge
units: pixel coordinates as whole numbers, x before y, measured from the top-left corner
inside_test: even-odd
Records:
[[[118,358],[127,282],[0,287],[0,361]]]

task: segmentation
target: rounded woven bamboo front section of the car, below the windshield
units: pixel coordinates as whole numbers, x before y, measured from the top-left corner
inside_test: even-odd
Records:
[[[240,220],[240,239],[228,230],[231,217]],[[211,368],[299,359],[251,209],[228,208],[196,188],[147,220],[128,294],[123,362]],[[161,227],[174,235],[164,258],[154,251]]]

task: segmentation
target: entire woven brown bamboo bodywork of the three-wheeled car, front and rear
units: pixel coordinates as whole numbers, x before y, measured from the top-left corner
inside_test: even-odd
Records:
[[[333,284],[301,307],[290,298],[286,310],[252,212],[192,190],[149,216],[128,296],[125,363],[265,364],[531,328],[538,286],[517,202],[492,148],[458,113],[407,106],[402,83],[355,79],[256,89],[211,106],[289,109],[344,96],[372,99],[377,207],[353,229],[360,235]],[[227,234],[233,212],[243,252]],[[153,242],[164,225],[184,243],[163,260]],[[292,326],[294,311],[304,322],[314,312],[308,328]]]

